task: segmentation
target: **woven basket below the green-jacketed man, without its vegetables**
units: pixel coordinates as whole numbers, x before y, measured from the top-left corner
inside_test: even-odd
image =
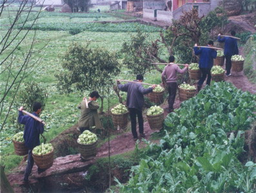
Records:
[[[97,141],[98,142],[98,141]],[[91,144],[81,144],[77,142],[78,144],[78,151],[81,154],[81,158],[83,160],[90,160],[97,154],[97,142],[91,143]]]

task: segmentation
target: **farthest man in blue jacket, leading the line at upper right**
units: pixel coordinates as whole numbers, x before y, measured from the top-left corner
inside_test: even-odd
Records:
[[[235,36],[235,31],[231,31],[231,36]],[[218,41],[219,42],[225,42],[224,46],[224,56],[226,59],[226,77],[230,77],[230,69],[231,69],[231,57],[232,55],[237,55],[239,54],[239,50],[237,47],[237,40],[232,37],[222,37],[221,38],[221,33],[218,35]]]

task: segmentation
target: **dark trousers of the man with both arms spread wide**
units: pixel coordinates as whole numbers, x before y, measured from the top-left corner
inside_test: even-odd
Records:
[[[138,138],[138,134],[136,131],[136,115],[138,116],[138,122],[139,122],[139,133],[144,133],[143,128],[143,111],[140,111],[135,108],[129,108],[130,118],[131,118],[131,125],[132,125],[132,135],[133,138]]]

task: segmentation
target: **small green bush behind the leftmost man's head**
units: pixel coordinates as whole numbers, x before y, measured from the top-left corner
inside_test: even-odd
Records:
[[[27,108],[26,111],[33,112],[34,102],[41,102],[42,109],[44,109],[46,100],[48,98],[46,89],[36,82],[28,82],[25,87],[20,89],[17,95],[17,101],[22,106]]]

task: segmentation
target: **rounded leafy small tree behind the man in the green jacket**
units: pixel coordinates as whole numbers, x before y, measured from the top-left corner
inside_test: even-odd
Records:
[[[89,44],[81,46],[74,43],[66,51],[62,66],[63,71],[55,75],[61,90],[64,93],[74,90],[99,91],[102,113],[104,93],[113,86],[113,78],[121,72],[117,54],[100,48],[89,48]]]

